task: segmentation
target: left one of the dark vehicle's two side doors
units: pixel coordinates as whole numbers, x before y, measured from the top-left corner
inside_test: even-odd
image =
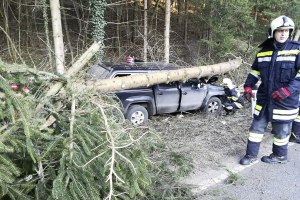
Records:
[[[179,106],[179,89],[176,82],[154,86],[157,113],[173,113]]]

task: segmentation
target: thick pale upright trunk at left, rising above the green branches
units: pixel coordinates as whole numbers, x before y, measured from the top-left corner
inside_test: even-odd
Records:
[[[58,74],[64,74],[65,53],[59,0],[50,0],[50,9],[52,18],[56,72]]]

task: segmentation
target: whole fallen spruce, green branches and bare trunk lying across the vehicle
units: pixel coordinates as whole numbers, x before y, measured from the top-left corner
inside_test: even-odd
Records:
[[[240,64],[236,59],[87,82],[79,90],[73,80],[84,62],[65,77],[1,62],[0,197],[161,199],[158,193],[164,187],[155,177],[161,162],[153,165],[151,151],[146,151],[157,145],[156,140],[149,139],[147,127],[127,124],[106,92],[222,74]],[[18,83],[17,88],[11,83]],[[49,118],[54,120],[49,123]]]

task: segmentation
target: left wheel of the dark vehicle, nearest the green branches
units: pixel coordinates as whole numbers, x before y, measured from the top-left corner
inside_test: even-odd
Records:
[[[140,125],[148,120],[148,116],[149,114],[145,107],[133,105],[129,107],[126,114],[126,119],[128,119],[134,125]]]

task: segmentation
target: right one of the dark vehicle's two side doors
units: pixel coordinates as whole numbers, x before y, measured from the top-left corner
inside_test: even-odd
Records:
[[[180,111],[197,110],[207,94],[207,85],[199,81],[181,83]]]

